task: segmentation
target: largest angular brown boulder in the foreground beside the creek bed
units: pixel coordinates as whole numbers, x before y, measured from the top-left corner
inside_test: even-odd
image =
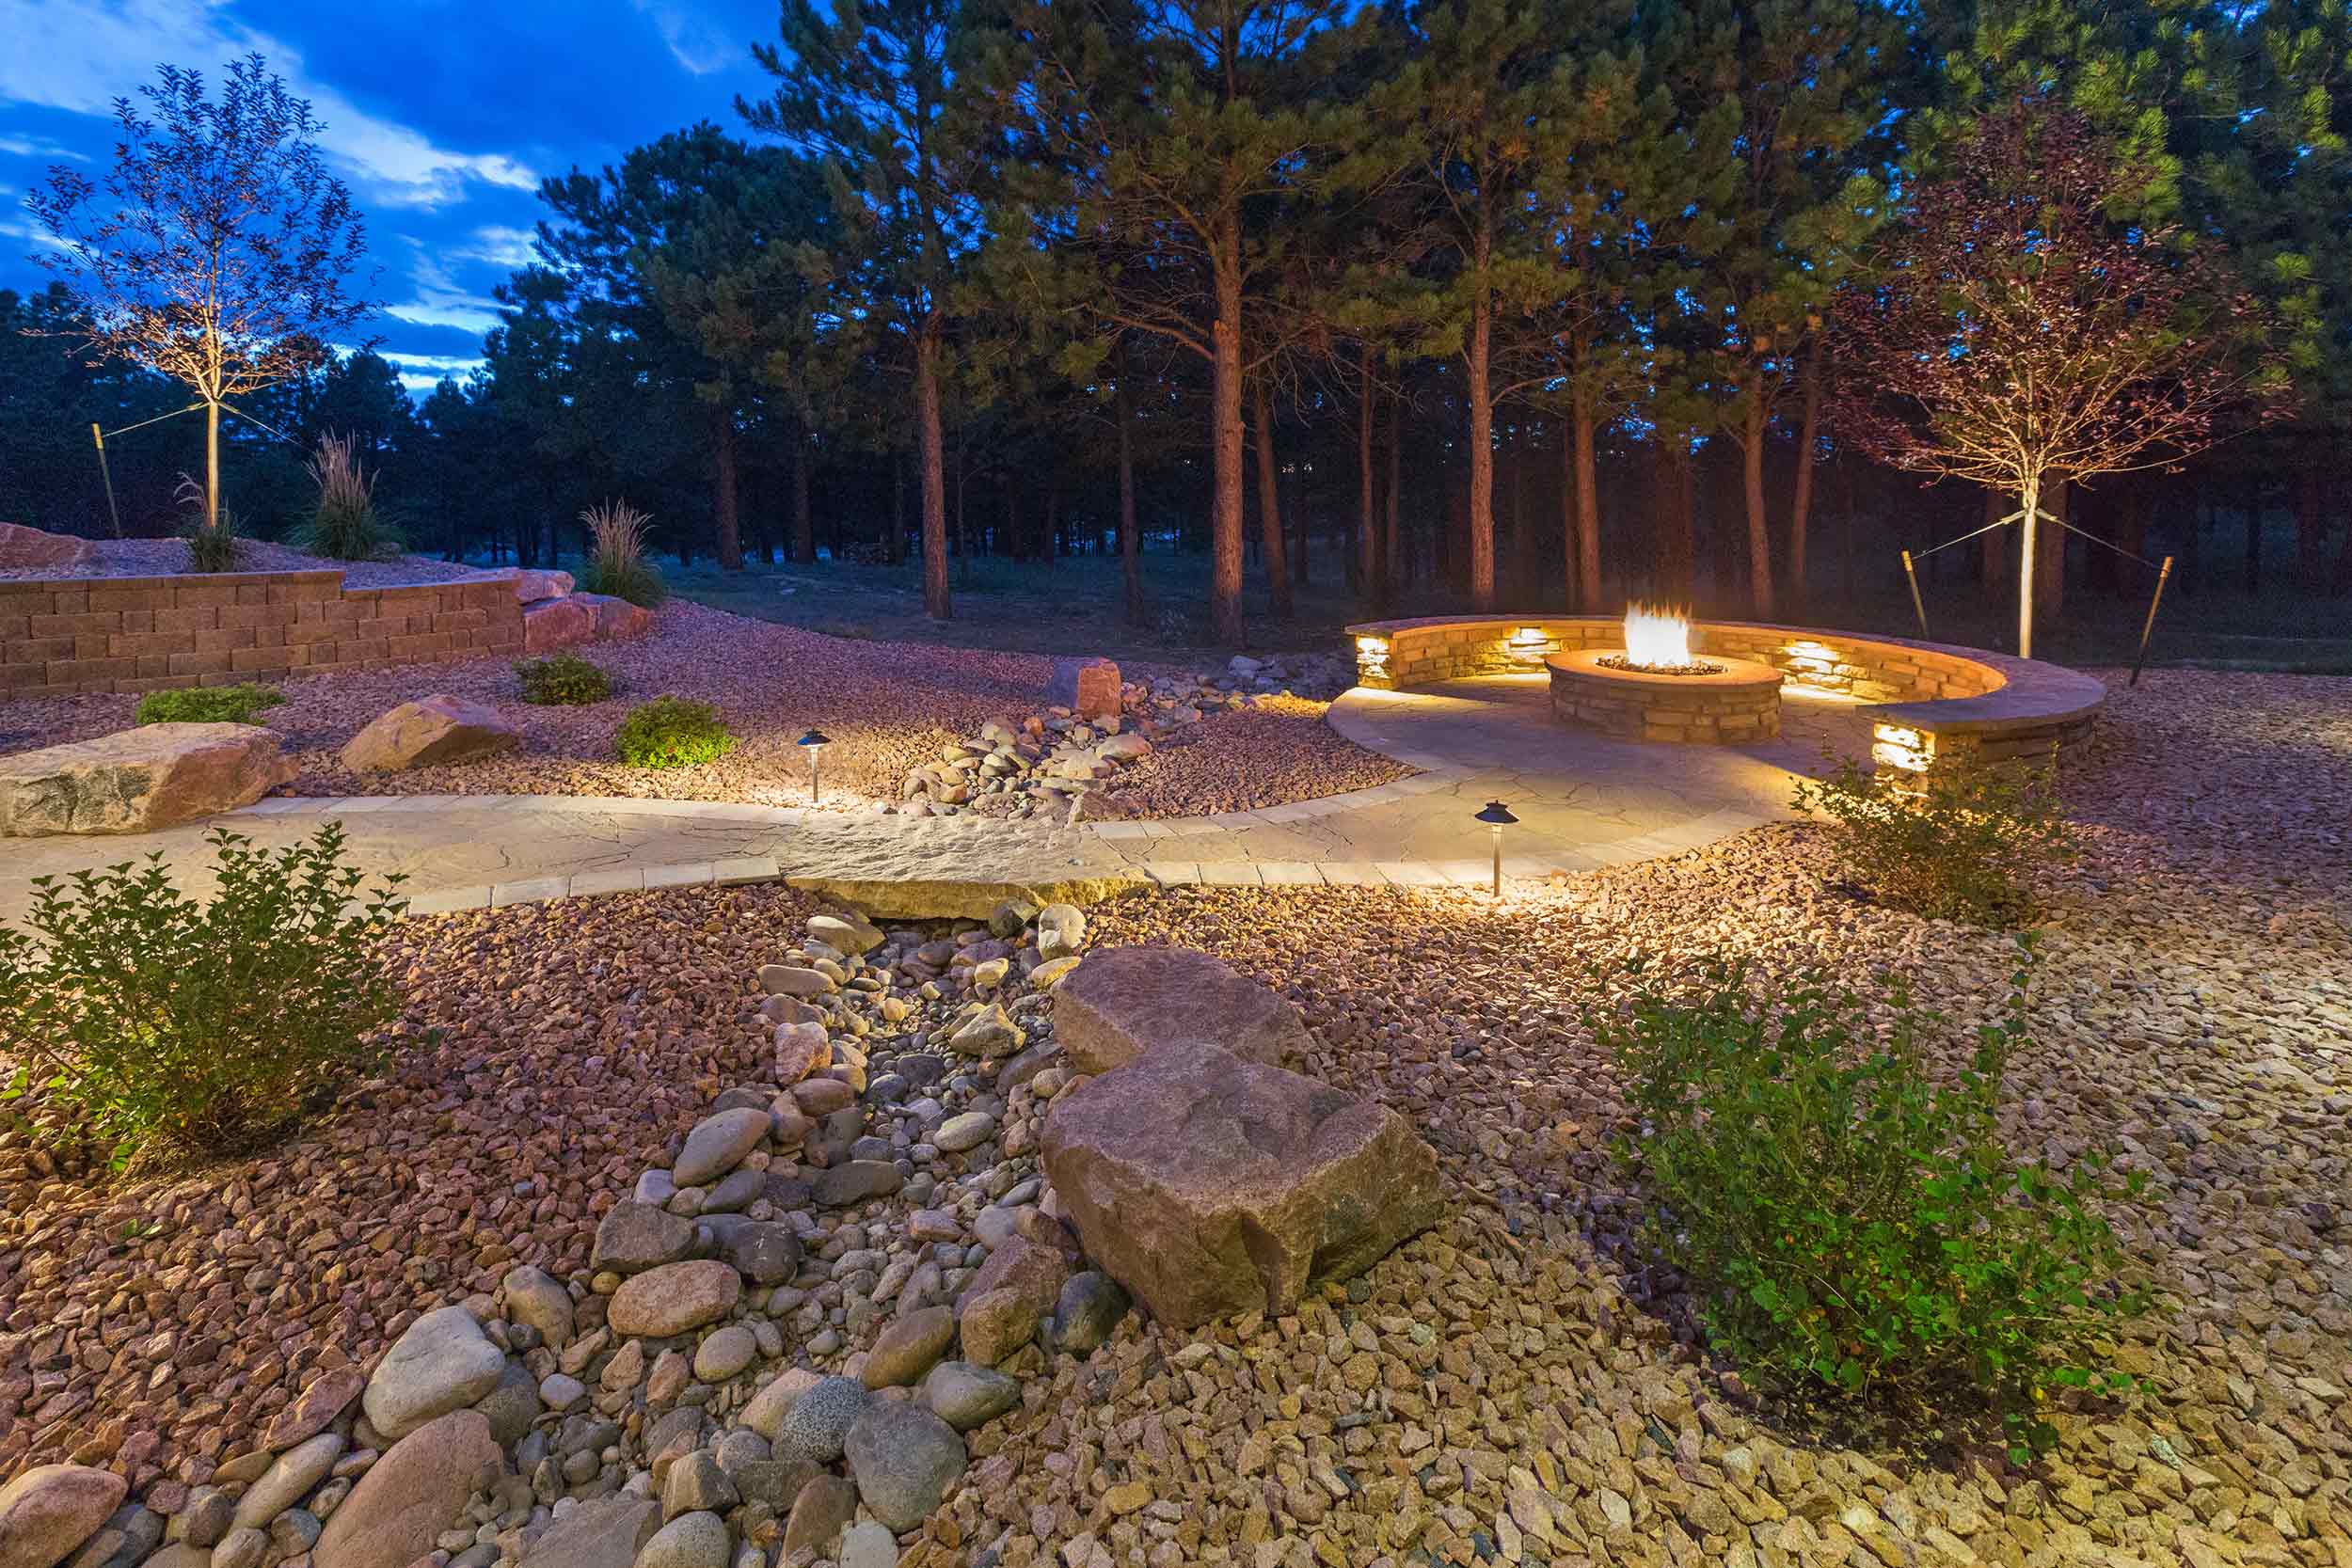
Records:
[[[1291,1312],[1444,1213],[1404,1117],[1204,1044],[1061,1095],[1042,1150],[1087,1255],[1178,1331]]]

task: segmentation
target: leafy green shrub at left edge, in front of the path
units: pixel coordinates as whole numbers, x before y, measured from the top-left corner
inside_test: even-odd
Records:
[[[256,1147],[376,1060],[402,994],[374,957],[400,877],[362,889],[329,823],[268,851],[212,830],[216,891],[162,870],[35,877],[35,936],[0,926],[0,1098],[38,1100],[134,1154]],[[38,940],[35,940],[38,938]]]

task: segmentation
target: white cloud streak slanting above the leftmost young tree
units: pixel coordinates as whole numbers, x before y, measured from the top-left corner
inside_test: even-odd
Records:
[[[423,132],[369,115],[301,71],[301,54],[230,14],[230,0],[0,0],[0,101],[111,115],[113,101],[153,80],[146,61],[202,63],[209,75],[252,49],[310,99],[327,122],[320,146],[367,200],[440,207],[466,186],[534,190],[539,179],[506,153],[456,153]]]

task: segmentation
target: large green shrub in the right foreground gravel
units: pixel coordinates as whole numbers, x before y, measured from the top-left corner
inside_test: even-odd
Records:
[[[1769,1006],[1743,980],[1689,997],[1637,973],[1630,1009],[1592,1020],[1628,1079],[1639,1131],[1616,1152],[1651,1192],[1646,1241],[1715,1347],[1762,1387],[1905,1422],[1973,1389],[2020,1455],[2056,1436],[2049,1389],[2126,1389],[2091,1366],[2098,1331],[2147,1307],[2098,1213],[2117,1187],[2098,1157],[2018,1161],[1994,1126],[2025,973],[1947,1079],[1919,1048],[1936,1016],[1900,990],[1865,1006],[1806,976]]]

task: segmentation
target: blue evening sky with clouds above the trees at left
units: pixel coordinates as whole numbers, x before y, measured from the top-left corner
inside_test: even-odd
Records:
[[[0,287],[47,282],[24,195],[59,162],[99,179],[118,96],[261,49],[327,122],[381,268],[379,350],[421,393],[480,360],[539,179],[701,118],[741,129],[774,35],[774,0],[0,0]]]

